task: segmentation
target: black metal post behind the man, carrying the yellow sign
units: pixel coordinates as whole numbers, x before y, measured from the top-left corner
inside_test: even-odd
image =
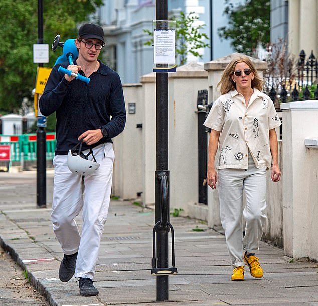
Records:
[[[38,0],[38,44],[43,43],[43,0]],[[39,64],[43,67],[43,64]],[[46,131],[37,128],[37,207],[46,207]]]

